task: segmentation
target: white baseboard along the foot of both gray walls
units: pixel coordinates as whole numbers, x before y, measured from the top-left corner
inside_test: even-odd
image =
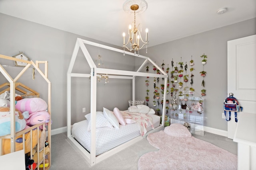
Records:
[[[64,133],[66,131],[67,131],[67,127],[65,126],[65,127],[60,127],[60,128],[57,128],[57,129],[52,129],[51,134],[52,135],[57,135],[59,133]],[[207,126],[204,126],[204,131],[209,132],[209,133],[213,133],[213,134],[216,134],[216,135],[228,137],[228,131],[215,129],[215,128],[207,127]],[[48,131],[46,131],[46,135],[48,136]]]

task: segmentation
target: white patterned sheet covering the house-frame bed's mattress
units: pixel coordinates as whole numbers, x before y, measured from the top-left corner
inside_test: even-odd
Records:
[[[158,127],[160,125],[160,117],[154,114],[149,116],[152,117],[154,128]],[[88,120],[80,121],[74,123],[71,132],[74,139],[90,152],[90,131],[87,131],[87,127]],[[150,130],[152,128],[150,126],[147,127],[147,131]],[[120,125],[119,129],[96,129],[96,156],[138,136],[140,136],[140,127],[137,123]]]

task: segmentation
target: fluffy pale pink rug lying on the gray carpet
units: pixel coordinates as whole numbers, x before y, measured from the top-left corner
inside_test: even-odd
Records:
[[[138,170],[237,169],[235,154],[192,136],[177,137],[186,130],[179,132],[175,128],[165,128],[164,131],[148,135],[148,142],[159,151],[142,155],[138,161]]]

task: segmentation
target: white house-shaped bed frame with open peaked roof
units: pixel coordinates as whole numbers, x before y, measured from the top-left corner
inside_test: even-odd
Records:
[[[92,60],[92,57],[90,56],[89,52],[87,51],[85,44],[88,45],[93,45],[96,47],[108,49],[111,51],[116,51],[121,53],[120,56],[123,56],[123,53],[126,55],[131,55],[134,57],[139,57],[142,59],[145,59],[145,61],[142,63],[140,68],[138,68],[137,71],[127,71],[127,70],[114,70],[114,69],[106,69],[106,68],[97,68],[96,64]],[[81,48],[82,53],[84,54],[84,57],[86,58],[86,61],[88,62],[90,66],[90,73],[86,74],[81,74],[81,73],[72,73],[72,69],[74,67],[74,63],[76,61],[76,57],[78,54],[78,50]],[[155,73],[145,73],[145,72],[140,72],[142,68],[147,64],[151,63],[153,66],[155,66],[162,74],[155,74]],[[106,45],[101,45],[98,43],[93,43],[90,41],[86,41],[83,39],[78,38],[76,40],[76,45],[74,47],[74,51],[71,57],[71,61],[68,67],[68,72],[67,72],[67,137],[70,141],[70,143],[78,149],[78,151],[84,156],[84,158],[90,163],[90,165],[94,165],[109,156],[112,156],[113,154],[119,152],[122,149],[125,149],[126,147],[129,147],[130,145],[140,141],[143,139],[141,136],[135,137],[131,139],[130,141],[127,141],[126,143],[123,143],[122,145],[119,145],[118,147],[115,147],[111,150],[108,150],[107,152],[104,152],[98,156],[96,156],[96,93],[97,93],[97,75],[100,74],[108,74],[109,78],[121,78],[121,79],[132,79],[132,100],[135,101],[135,77],[136,76],[143,76],[143,77],[159,77],[159,78],[164,78],[164,86],[167,86],[167,80],[168,80],[168,75],[158,66],[156,65],[150,58],[142,56],[142,55],[134,55],[134,53],[130,53],[127,51],[123,51],[120,49],[115,49],[113,47],[108,47]],[[71,78],[72,77],[81,77],[81,78],[89,78],[90,77],[90,84],[91,84],[91,91],[90,91],[90,113],[91,113],[91,149],[90,152],[88,152],[84,147],[76,141],[72,135],[71,135]],[[164,88],[164,101],[166,101],[166,88]],[[135,102],[134,102],[135,103]],[[163,102],[163,111],[162,111],[162,116],[165,116],[165,106],[166,102]],[[164,128],[164,119],[162,119],[162,123],[160,124],[159,127],[156,127],[155,129],[149,131],[148,133],[158,131],[160,129]],[[146,133],[146,135],[148,134]],[[146,135],[144,137],[146,137]]]

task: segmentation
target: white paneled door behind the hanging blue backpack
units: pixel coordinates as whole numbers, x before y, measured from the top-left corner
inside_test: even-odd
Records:
[[[243,107],[242,112],[256,113],[256,35],[228,41],[229,93],[233,93]],[[228,121],[228,138],[233,139],[235,129],[232,112]]]

